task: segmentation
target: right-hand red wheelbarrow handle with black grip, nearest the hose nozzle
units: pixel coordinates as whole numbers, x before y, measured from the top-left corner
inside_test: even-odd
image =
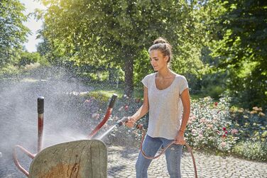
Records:
[[[94,135],[99,131],[100,128],[102,128],[102,126],[104,126],[104,124],[107,122],[107,120],[109,119],[109,116],[111,115],[112,109],[114,107],[116,98],[118,97],[118,95],[113,94],[113,96],[111,97],[111,100],[109,102],[109,107],[107,109],[107,113],[104,116],[103,120],[101,121],[101,123],[99,123],[97,125],[97,127],[94,128],[94,130],[92,130],[92,132],[89,134],[89,139],[93,138]]]

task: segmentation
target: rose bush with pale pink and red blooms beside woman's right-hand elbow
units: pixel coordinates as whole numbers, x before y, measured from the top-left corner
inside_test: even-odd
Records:
[[[185,137],[194,148],[230,152],[238,135],[229,118],[229,99],[211,97],[192,101]],[[234,131],[233,131],[234,130]]]

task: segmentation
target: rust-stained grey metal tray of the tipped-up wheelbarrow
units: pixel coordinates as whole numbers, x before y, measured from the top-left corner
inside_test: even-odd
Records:
[[[76,140],[43,149],[31,162],[29,177],[107,177],[107,146],[100,140]]]

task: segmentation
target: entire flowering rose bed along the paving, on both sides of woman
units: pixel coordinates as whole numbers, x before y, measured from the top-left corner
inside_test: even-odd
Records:
[[[81,102],[82,107],[79,109],[85,113],[85,118],[81,118],[82,127],[91,126],[93,129],[104,118],[111,94],[90,91],[87,94],[71,95],[75,96],[80,97],[77,102]],[[246,159],[266,161],[266,132],[263,131],[266,120],[262,118],[261,109],[254,108],[254,111],[248,111],[249,113],[237,110],[238,113],[233,115],[233,111],[229,109],[229,100],[227,96],[223,96],[219,102],[215,102],[211,97],[192,100],[190,120],[185,131],[187,143],[194,149],[215,151],[219,155],[234,154]],[[97,135],[102,135],[122,117],[131,116],[141,104],[140,98],[119,96],[111,117]],[[244,122],[241,117],[246,118],[244,121],[249,123]],[[147,126],[147,121],[146,115],[138,123]],[[251,133],[254,135],[250,138]],[[141,135],[140,130],[121,126],[111,130],[103,140],[107,144],[138,147]]]

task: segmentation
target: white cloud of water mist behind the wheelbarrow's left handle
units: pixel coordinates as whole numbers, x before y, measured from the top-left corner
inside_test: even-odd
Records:
[[[67,77],[62,69],[50,71],[46,78],[36,75],[1,81],[0,86],[0,177],[24,177],[13,164],[11,151],[14,145],[37,152],[38,96],[45,98],[43,148],[86,139],[95,126],[90,111],[96,110],[97,106],[87,109],[81,97],[77,97],[91,91],[92,87]],[[18,152],[18,160],[28,169],[30,158]]]

